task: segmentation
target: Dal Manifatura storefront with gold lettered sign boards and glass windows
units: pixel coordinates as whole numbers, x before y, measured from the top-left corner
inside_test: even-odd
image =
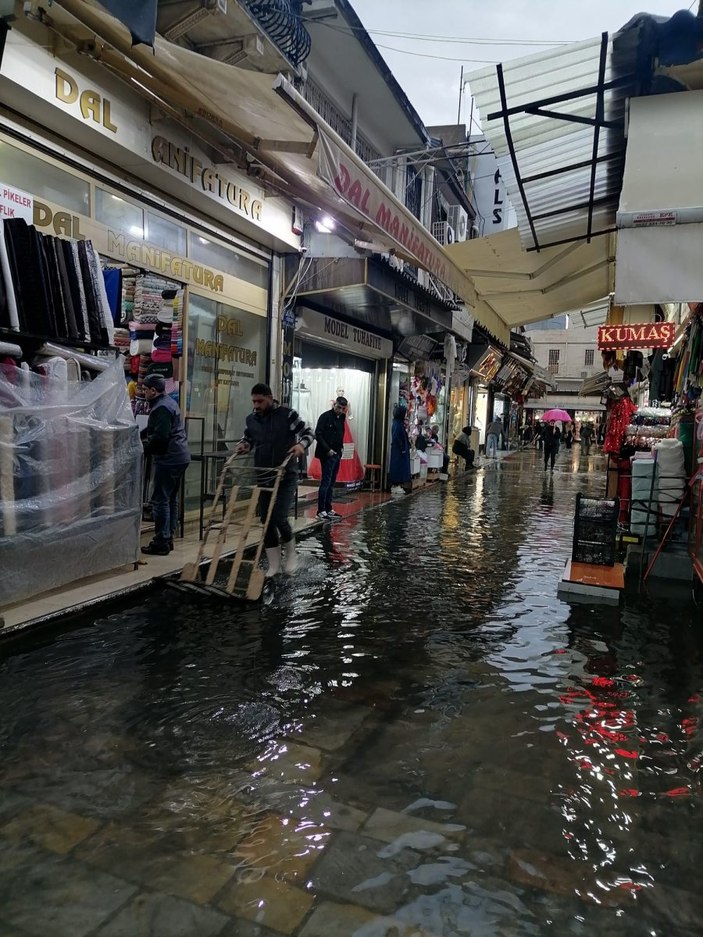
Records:
[[[182,291],[176,391],[194,454],[238,438],[253,383],[269,373],[277,251],[294,251],[290,206],[194,145],[178,125],[88,60],[55,58],[18,23],[0,75],[0,183],[27,193],[38,231],[90,239],[103,266]],[[21,111],[21,116],[20,112]],[[116,326],[129,329],[130,303]],[[200,490],[199,465],[187,495]]]

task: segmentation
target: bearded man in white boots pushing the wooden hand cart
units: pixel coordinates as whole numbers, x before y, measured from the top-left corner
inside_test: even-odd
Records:
[[[246,419],[244,435],[236,452],[254,452],[256,468],[278,468],[288,459],[271,519],[264,531],[264,548],[269,567],[267,578],[277,573],[294,573],[297,568],[295,534],[290,525],[290,513],[298,487],[297,460],[310,448],[312,429],[300,419],[295,410],[273,399],[268,384],[255,384],[251,389],[253,413]],[[289,458],[290,457],[290,458]],[[263,477],[260,482],[270,481]],[[271,505],[271,492],[262,491],[259,498],[259,517],[266,522]]]

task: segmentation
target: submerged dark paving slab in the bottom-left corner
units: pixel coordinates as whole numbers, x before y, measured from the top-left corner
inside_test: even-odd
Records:
[[[4,896],[6,921],[36,937],[85,937],[136,892],[71,860],[36,863]]]

